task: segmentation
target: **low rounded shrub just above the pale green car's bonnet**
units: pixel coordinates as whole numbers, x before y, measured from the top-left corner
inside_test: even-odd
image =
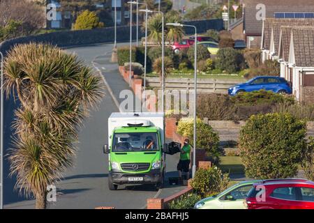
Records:
[[[229,174],[223,174],[218,167],[212,167],[210,169],[198,169],[191,186],[197,194],[204,198],[223,192],[227,189],[229,181]]]

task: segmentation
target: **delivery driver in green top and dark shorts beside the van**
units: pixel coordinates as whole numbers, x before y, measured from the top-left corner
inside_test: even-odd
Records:
[[[182,181],[182,171],[186,172],[186,180],[190,178],[190,140],[184,140],[184,146],[181,149],[180,160],[177,166],[179,171],[179,180]]]

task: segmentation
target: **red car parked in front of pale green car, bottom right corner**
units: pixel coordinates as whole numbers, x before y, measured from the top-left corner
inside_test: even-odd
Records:
[[[248,209],[314,209],[314,182],[304,179],[263,180],[244,200]]]

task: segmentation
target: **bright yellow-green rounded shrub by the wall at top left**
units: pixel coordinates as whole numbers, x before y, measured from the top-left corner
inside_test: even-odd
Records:
[[[74,29],[82,30],[82,29],[96,29],[103,27],[103,22],[99,22],[99,18],[96,13],[91,12],[89,10],[84,10],[83,13],[77,16],[75,21]]]

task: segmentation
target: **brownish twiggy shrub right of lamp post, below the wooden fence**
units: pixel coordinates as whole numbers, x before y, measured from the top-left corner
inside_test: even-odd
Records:
[[[230,96],[202,94],[197,96],[197,116],[209,120],[234,120],[236,107]]]

